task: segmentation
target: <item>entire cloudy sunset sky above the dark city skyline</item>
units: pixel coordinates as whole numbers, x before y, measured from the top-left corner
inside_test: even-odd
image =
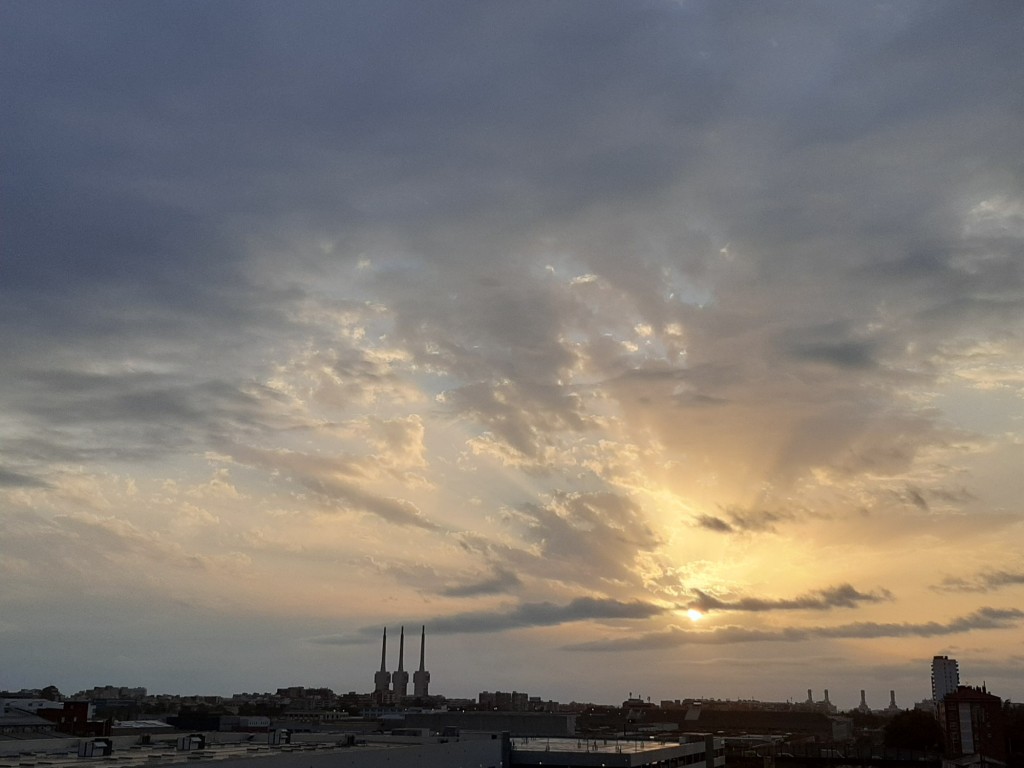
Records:
[[[0,4],[0,689],[1024,699],[1024,5]]]

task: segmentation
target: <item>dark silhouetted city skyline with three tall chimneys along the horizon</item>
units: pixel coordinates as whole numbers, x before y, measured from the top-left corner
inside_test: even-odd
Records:
[[[0,692],[0,748],[9,741],[57,741],[78,736],[84,739],[82,749],[89,755],[109,755],[119,738],[166,740],[181,733],[191,738],[216,732],[221,734],[216,738],[223,743],[231,739],[278,738],[268,741],[273,746],[300,734],[311,740],[330,733],[341,733],[345,739],[357,737],[355,734],[377,734],[443,740],[458,738],[459,733],[504,732],[514,739],[526,739],[523,744],[529,744],[532,738],[546,742],[571,739],[575,746],[560,744],[558,752],[564,753],[566,760],[574,756],[568,764],[589,765],[588,761],[601,756],[607,760],[620,754],[623,739],[637,743],[655,739],[667,744],[686,742],[690,743],[687,749],[693,750],[693,734],[716,734],[724,744],[721,750],[715,745],[697,751],[699,756],[687,752],[686,762],[679,765],[708,758],[720,768],[720,752],[724,750],[730,760],[739,764],[743,760],[787,757],[812,764],[844,760],[857,765],[879,761],[888,765],[913,760],[931,762],[937,768],[941,749],[942,768],[1024,768],[1020,749],[1024,745],[1024,708],[1004,705],[986,685],[962,685],[959,666],[948,656],[932,659],[933,697],[918,705],[915,711],[900,710],[895,690],[889,691],[888,707],[871,709],[867,691],[861,690],[859,706],[841,714],[827,689],[820,699],[815,700],[813,691],[808,690],[806,700],[796,701],[706,698],[654,703],[650,697],[634,697],[631,692],[620,706],[563,705],[515,690],[481,691],[475,700],[429,696],[425,646],[424,627],[419,669],[410,675],[404,668],[402,628],[397,668],[388,671],[385,629],[381,667],[374,674],[374,689],[365,693],[336,694],[330,688],[304,686],[229,697],[152,696],[144,688],[120,686],[90,688],[67,699],[53,686],[15,694]],[[153,719],[144,719],[146,716]],[[610,744],[610,751],[605,750],[605,744]],[[916,752],[908,756],[907,750]],[[543,759],[544,765],[553,764],[550,754],[527,754],[537,752],[532,744],[522,746],[518,762],[511,765],[540,765],[530,763],[535,759]],[[641,759],[653,760],[654,754],[644,754]],[[663,757],[670,760],[666,765],[683,759],[682,753],[677,755],[672,750]]]

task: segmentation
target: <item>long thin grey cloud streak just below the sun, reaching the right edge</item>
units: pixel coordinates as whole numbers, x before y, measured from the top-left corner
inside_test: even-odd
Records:
[[[689,644],[732,644],[763,642],[805,642],[829,639],[878,639],[900,637],[942,637],[964,632],[1013,629],[1024,620],[1024,611],[1016,608],[979,608],[964,616],[942,624],[858,622],[835,627],[752,629],[739,626],[717,627],[712,630],[690,630],[670,626],[665,630],[630,638],[596,640],[564,646],[571,651],[627,651],[674,648]]]

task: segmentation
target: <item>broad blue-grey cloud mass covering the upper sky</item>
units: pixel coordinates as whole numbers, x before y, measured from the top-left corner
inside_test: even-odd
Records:
[[[849,425],[884,411],[865,397],[822,412],[810,391],[843,400],[851,375],[885,387],[956,328],[1019,315],[1017,241],[950,232],[958,198],[943,182],[962,169],[935,162],[970,150],[962,136],[978,131],[957,130],[969,116],[986,117],[976,175],[1019,148],[1000,130],[1019,108],[982,96],[1015,82],[996,63],[1013,48],[1007,18],[945,4],[920,16],[881,9],[885,23],[669,3],[52,7],[6,14],[5,347],[81,338],[105,355],[114,338],[144,348],[188,334],[215,358],[240,328],[282,332],[305,290],[294,280],[286,290],[290,269],[397,251],[407,268],[372,286],[396,338],[457,377],[445,408],[536,468],[556,434],[593,426],[557,384],[583,354],[630,382],[624,398],[687,404],[663,424],[694,439],[702,430],[683,427],[708,403],[731,400],[720,422],[734,429],[763,384],[758,365],[817,377],[785,393],[795,413],[776,425],[792,434],[776,471],[792,475],[844,455]],[[795,38],[816,43],[786,48]],[[951,61],[962,67],[948,77],[920,80]],[[914,135],[939,116],[948,132]],[[296,232],[329,246],[303,247]],[[594,319],[586,304],[539,279],[538,238],[606,281],[655,334],[684,325],[680,376],[696,386],[672,391],[677,377],[644,391],[629,378],[635,362],[601,358],[600,329],[580,325]],[[724,283],[721,241],[739,254]],[[254,251],[288,263],[257,275]],[[787,301],[792,290],[804,301]],[[718,311],[691,311],[687,291]],[[757,348],[737,344],[755,327]],[[573,334],[590,339],[572,349]],[[758,365],[730,365],[728,391],[701,378],[746,352]],[[833,374],[804,370],[822,366]],[[195,413],[169,397],[155,385],[135,403]]]

